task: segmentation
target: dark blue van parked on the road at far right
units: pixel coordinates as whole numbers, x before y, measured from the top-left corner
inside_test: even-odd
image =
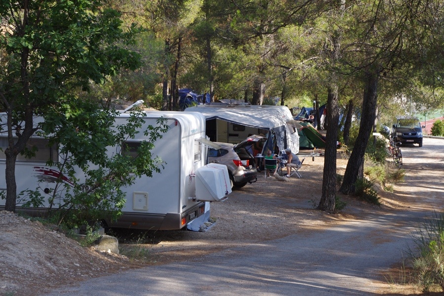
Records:
[[[401,144],[419,144],[422,147],[422,128],[419,119],[415,117],[399,117],[393,125],[396,142]]]

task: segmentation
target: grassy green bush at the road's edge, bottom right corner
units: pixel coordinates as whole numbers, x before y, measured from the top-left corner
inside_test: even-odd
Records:
[[[444,212],[435,213],[413,235],[410,249],[416,279],[429,291],[437,284],[444,292]]]

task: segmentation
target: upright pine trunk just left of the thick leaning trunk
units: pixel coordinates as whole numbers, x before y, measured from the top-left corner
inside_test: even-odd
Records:
[[[327,108],[327,121],[330,129],[328,130],[326,137],[322,197],[318,209],[333,212],[336,202],[336,127],[339,121],[337,84],[333,84],[328,89]]]

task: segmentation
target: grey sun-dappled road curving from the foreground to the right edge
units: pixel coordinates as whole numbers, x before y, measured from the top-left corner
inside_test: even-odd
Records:
[[[214,240],[219,251],[212,249],[212,240],[208,239],[212,237],[213,229],[203,234],[188,235],[189,232],[184,232],[177,234],[182,237],[179,240],[185,239],[188,245],[201,243],[200,256],[194,253],[194,256],[188,257],[189,246],[186,244],[168,249],[168,244],[174,245],[174,242],[160,239],[157,249],[162,249],[163,245],[173,253],[180,253],[175,258],[183,260],[87,280],[47,295],[390,294],[394,287],[384,275],[390,267],[402,262],[404,250],[411,241],[411,232],[422,219],[430,217],[433,211],[442,210],[444,205],[444,140],[425,138],[422,148],[403,147],[402,152],[406,178],[405,182],[395,185],[393,194],[398,198],[385,201],[392,207],[367,207],[364,211],[352,210],[326,219],[317,211],[307,211],[310,198],[318,196],[319,182],[313,183],[318,186],[311,190],[304,189],[303,200],[291,198],[297,195],[297,185],[300,184],[297,182],[302,180],[291,181],[293,191],[289,191],[290,187],[285,188],[292,184],[268,183],[267,187],[274,186],[273,192],[279,192],[276,196],[260,192],[249,195],[249,190],[255,187],[246,187],[239,196],[234,193],[230,203],[225,205],[229,211],[239,213],[239,216],[227,216],[237,217],[237,222],[227,223],[218,208],[223,203],[215,207],[214,212],[220,215],[221,222],[215,226],[214,232],[226,231],[218,241]],[[319,172],[310,178],[308,167],[305,173],[301,173],[307,182],[315,182],[319,178]],[[259,187],[257,185],[256,189]],[[257,204],[256,213],[243,213],[241,206],[236,207],[245,199]],[[286,207],[276,211],[276,207],[267,207],[267,203],[285,204]],[[290,221],[292,215],[299,217],[297,213],[301,209],[312,215],[310,223],[304,225],[303,221]],[[284,212],[290,212],[290,215]],[[319,217],[318,222],[316,217]],[[274,219],[275,223],[266,223],[267,229],[260,227],[261,223],[270,219]],[[228,224],[235,229],[224,228]],[[273,238],[273,231],[281,233],[281,224],[294,231]],[[270,225],[274,225],[274,229],[269,229]],[[239,231],[235,230],[239,229],[242,233],[249,233],[249,238],[237,239]],[[230,242],[231,246],[227,246]],[[206,249],[212,249],[212,252],[205,252]],[[153,254],[156,254],[156,248],[153,248]]]

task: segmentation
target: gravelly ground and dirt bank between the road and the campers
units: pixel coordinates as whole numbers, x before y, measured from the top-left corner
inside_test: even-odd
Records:
[[[347,161],[342,155],[338,153],[339,173],[343,173]],[[381,207],[341,196],[347,202],[344,210],[334,214],[315,210],[321,196],[323,161],[323,157],[313,161],[307,157],[300,170],[302,178],[292,177],[290,182],[259,175],[257,183],[211,205],[211,217],[216,223],[206,232],[111,233],[119,237],[121,254],[139,251],[136,259],[83,248],[40,222],[0,212],[0,295],[44,295],[55,287],[127,268],[195,259],[230,247],[303,234],[373,211],[408,207],[398,194],[381,192]],[[410,295],[411,292],[407,291]]]

